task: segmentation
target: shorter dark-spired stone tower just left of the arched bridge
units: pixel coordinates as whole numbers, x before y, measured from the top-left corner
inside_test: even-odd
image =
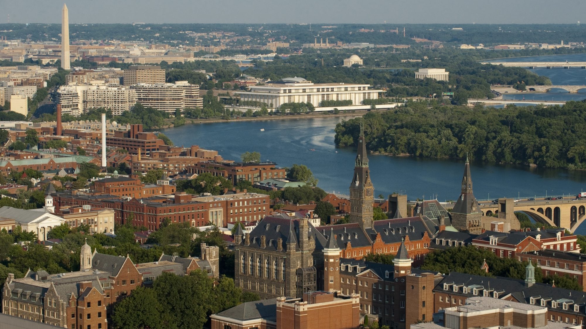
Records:
[[[459,231],[467,231],[471,234],[482,233],[482,211],[472,192],[472,175],[468,155],[466,155],[466,164],[464,165],[460,197],[450,214],[452,226]]]

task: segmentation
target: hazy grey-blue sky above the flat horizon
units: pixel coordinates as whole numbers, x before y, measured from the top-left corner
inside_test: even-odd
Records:
[[[59,23],[62,0],[0,0],[0,22]],[[586,23],[584,0],[71,0],[70,23]]]

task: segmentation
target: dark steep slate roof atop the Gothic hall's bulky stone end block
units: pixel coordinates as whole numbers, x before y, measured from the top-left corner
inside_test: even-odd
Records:
[[[309,237],[313,237],[315,247],[318,250],[326,245],[326,238],[308,221]],[[277,250],[277,239],[282,239],[282,249],[287,250],[289,239],[295,241],[295,249],[299,249],[299,218],[289,218],[286,215],[267,216],[261,220],[257,227],[250,232],[250,245],[260,248],[261,236],[266,239],[265,250]],[[289,236],[291,235],[291,238]],[[243,241],[244,243],[244,241]]]

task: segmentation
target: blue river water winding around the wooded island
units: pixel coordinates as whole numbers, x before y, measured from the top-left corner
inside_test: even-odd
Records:
[[[581,56],[581,57],[579,57]],[[523,60],[584,60],[586,54],[568,56],[526,57]],[[521,59],[510,59],[521,60]],[[586,84],[586,70],[538,69],[537,74],[550,77],[553,84]],[[570,79],[570,77],[572,77]],[[566,80],[567,79],[567,80]],[[521,99],[521,94],[515,94]],[[506,95],[506,97],[512,95]],[[526,100],[583,100],[586,94],[543,92],[525,94]],[[538,98],[544,97],[544,98]],[[218,150],[224,159],[240,159],[246,151],[261,153],[281,167],[304,164],[326,191],[347,194],[354,166],[355,148],[338,148],[334,144],[334,128],[350,117],[312,116],[302,119],[265,121],[230,121],[214,124],[187,124],[164,129],[175,145],[199,145]],[[189,120],[188,120],[189,121]],[[265,131],[260,131],[264,128]],[[315,150],[311,150],[315,149]],[[336,153],[337,152],[337,153]],[[459,196],[464,162],[461,159],[418,159],[369,155],[375,196],[405,193],[409,200],[437,198],[455,200]],[[476,198],[534,197],[575,195],[586,189],[586,172],[564,169],[529,168],[515,165],[472,162],[473,190]],[[582,232],[580,232],[582,231]],[[586,234],[586,225],[578,229]]]

